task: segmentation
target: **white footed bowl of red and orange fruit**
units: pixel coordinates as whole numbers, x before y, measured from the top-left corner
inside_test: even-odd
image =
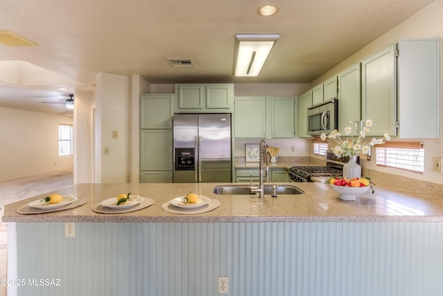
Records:
[[[345,179],[343,177],[332,177],[326,182],[329,187],[340,195],[341,200],[356,200],[356,195],[363,194],[371,188],[368,178]]]

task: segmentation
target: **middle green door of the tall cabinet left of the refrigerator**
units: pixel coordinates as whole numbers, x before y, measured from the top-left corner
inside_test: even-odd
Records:
[[[141,171],[172,171],[172,130],[141,130]]]

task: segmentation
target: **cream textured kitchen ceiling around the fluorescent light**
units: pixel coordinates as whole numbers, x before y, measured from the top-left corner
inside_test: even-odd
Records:
[[[100,72],[139,74],[152,83],[311,82],[431,1],[273,3],[278,13],[261,17],[256,10],[269,1],[2,1],[0,30],[38,46],[0,44],[0,61],[23,60],[82,83],[66,91],[60,85],[34,87],[55,94],[91,90]],[[257,78],[232,75],[236,33],[280,33]],[[190,58],[195,67],[172,68],[167,58]],[[19,101],[19,92],[6,93],[0,93],[0,105],[12,95]]]

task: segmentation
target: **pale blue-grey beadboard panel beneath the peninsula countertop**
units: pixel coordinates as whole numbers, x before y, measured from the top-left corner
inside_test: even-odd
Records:
[[[15,223],[18,295],[443,295],[443,223]]]

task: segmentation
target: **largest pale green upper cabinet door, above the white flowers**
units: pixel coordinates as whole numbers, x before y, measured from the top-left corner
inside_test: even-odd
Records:
[[[361,62],[361,119],[372,119],[368,136],[397,135],[396,46]],[[340,116],[340,115],[339,115]]]

